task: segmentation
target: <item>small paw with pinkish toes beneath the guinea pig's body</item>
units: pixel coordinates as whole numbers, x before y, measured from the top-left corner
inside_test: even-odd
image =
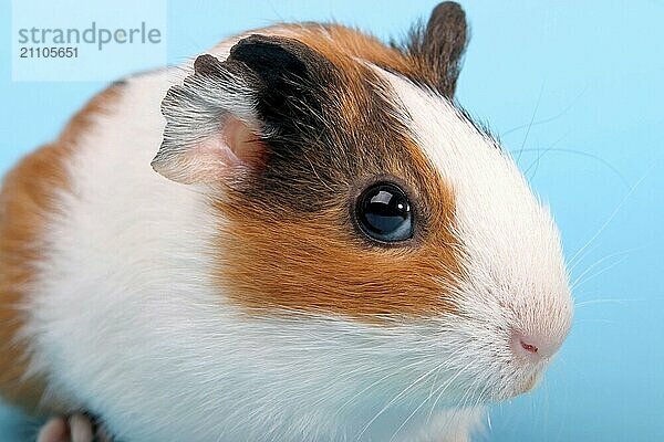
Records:
[[[52,418],[39,431],[37,442],[112,442],[106,431],[87,414]]]

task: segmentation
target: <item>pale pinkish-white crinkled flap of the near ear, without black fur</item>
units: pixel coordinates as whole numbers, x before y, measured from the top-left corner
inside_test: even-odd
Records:
[[[187,185],[241,180],[264,152],[253,102],[241,70],[198,56],[194,74],[162,101],[166,127],[153,169]]]

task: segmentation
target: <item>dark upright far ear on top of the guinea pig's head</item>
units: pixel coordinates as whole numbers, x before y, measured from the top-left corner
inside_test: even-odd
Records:
[[[406,43],[406,53],[426,82],[452,98],[467,39],[466,13],[458,3],[446,1],[434,8],[426,28],[413,29]]]

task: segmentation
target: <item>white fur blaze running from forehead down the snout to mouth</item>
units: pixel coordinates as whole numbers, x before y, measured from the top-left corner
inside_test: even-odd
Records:
[[[418,145],[454,189],[456,235],[469,273],[456,301],[477,325],[473,341],[484,362],[474,375],[502,387],[492,392],[496,399],[510,397],[519,386],[502,386],[500,376],[528,383],[542,368],[509,364],[512,334],[543,336],[557,348],[571,324],[558,229],[507,151],[446,99],[382,75],[407,110],[403,118]],[[497,341],[507,345],[497,347]]]

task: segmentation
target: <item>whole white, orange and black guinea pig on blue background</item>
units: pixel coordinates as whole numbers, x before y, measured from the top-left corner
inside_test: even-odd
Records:
[[[40,442],[460,442],[533,388],[571,325],[561,241],[454,99],[466,36],[450,2],[390,45],[249,31],[11,170],[0,393],[53,418]]]

